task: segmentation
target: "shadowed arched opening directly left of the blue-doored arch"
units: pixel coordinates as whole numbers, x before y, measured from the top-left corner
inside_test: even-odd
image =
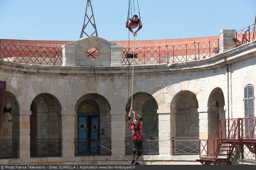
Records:
[[[39,94],[32,101],[30,111],[30,156],[60,156],[59,101],[52,94]]]

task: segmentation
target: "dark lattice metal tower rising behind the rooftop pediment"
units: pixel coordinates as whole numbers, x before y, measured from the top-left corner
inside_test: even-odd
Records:
[[[90,7],[91,7],[91,11],[90,11]],[[88,19],[87,22],[86,22],[86,19]],[[91,34],[91,32],[93,33]],[[91,5],[91,0],[87,0],[86,9],[85,9],[85,19],[83,20],[83,27],[80,34],[80,38],[83,37],[83,34],[85,34],[87,37],[93,36],[94,34],[98,36],[95,19],[93,15],[93,7]]]

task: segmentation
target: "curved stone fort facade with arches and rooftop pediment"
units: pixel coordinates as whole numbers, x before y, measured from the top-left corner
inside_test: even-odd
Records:
[[[0,164],[130,164],[131,95],[134,110],[145,117],[146,137],[157,139],[157,154],[141,156],[142,164],[199,164],[198,155],[174,154],[173,139],[212,139],[220,119],[245,117],[244,87],[256,85],[256,41],[230,49],[225,35],[220,34],[220,54],[209,59],[134,66],[133,94],[122,46],[99,37],[63,45],[63,66],[0,60],[5,106],[12,109],[3,114],[0,139],[17,141],[17,158]],[[98,49],[97,59],[86,57],[88,48]],[[91,156],[99,147],[95,142],[90,153],[80,152],[86,146],[77,150],[93,135],[106,139],[113,152]],[[59,156],[34,150],[40,140],[57,143]],[[255,154],[250,158],[234,152],[232,162],[255,164]]]

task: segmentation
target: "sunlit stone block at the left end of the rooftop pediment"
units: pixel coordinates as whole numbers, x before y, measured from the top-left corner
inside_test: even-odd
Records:
[[[62,46],[62,66],[75,66],[75,45]]]

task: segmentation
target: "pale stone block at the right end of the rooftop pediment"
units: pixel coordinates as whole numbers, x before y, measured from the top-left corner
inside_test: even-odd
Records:
[[[121,45],[111,45],[111,66],[122,66],[123,51]]]

